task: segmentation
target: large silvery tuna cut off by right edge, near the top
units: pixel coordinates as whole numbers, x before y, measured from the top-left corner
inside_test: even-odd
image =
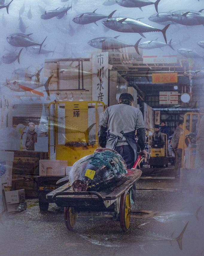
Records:
[[[180,10],[170,13],[168,16],[173,22],[178,24],[186,26],[204,25],[204,15],[201,13],[203,10]]]

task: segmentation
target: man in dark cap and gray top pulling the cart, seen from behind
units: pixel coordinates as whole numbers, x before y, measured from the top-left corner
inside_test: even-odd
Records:
[[[137,143],[147,158],[144,120],[142,112],[133,107],[133,101],[131,94],[122,93],[117,105],[106,108],[98,128],[99,145],[117,151],[124,158],[128,169],[133,167],[137,159]],[[133,184],[133,201],[135,192],[136,185]]]

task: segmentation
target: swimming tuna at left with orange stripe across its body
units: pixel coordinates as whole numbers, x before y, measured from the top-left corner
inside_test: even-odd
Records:
[[[4,85],[15,92],[29,91],[29,92],[33,92],[33,93],[36,93],[35,89],[45,86],[45,90],[46,90],[48,96],[50,96],[48,85],[49,85],[52,77],[53,76],[50,76],[44,84],[36,83],[35,81],[32,81],[32,80],[31,81],[10,80],[10,81],[6,81],[6,83]]]

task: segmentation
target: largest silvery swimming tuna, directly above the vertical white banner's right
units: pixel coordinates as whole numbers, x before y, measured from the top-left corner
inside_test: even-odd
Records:
[[[124,33],[139,33],[144,38],[145,36],[143,35],[143,33],[156,31],[162,32],[165,42],[167,44],[166,30],[168,29],[170,24],[165,26],[165,28],[163,29],[157,29],[153,26],[141,22],[139,19],[135,20],[127,17],[116,17],[103,20],[102,23],[109,29]]]

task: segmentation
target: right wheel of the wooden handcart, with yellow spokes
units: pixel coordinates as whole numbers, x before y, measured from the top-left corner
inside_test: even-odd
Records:
[[[120,224],[123,231],[127,231],[130,225],[130,194],[126,191],[120,200]]]

